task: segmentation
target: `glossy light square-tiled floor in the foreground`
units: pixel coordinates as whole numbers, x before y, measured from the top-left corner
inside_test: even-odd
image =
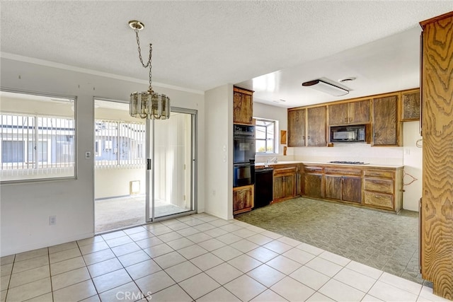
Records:
[[[1,301],[447,301],[421,284],[207,214],[0,261]]]

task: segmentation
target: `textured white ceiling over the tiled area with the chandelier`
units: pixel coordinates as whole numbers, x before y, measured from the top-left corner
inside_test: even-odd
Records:
[[[153,43],[156,86],[206,91],[288,69],[299,88],[299,78],[336,76],[304,64],[452,10],[452,1],[1,1],[1,52],[147,81],[127,25],[136,19],[144,57]]]

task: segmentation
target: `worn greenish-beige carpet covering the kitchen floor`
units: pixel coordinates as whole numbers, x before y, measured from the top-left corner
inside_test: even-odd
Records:
[[[396,215],[300,197],[235,218],[430,285],[418,269],[418,212]]]

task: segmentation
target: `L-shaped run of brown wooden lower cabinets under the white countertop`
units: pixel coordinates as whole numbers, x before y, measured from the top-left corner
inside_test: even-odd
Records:
[[[273,164],[273,202],[297,196],[395,211],[403,207],[403,167]]]

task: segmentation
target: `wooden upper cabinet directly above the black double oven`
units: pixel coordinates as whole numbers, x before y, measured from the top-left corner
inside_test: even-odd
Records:
[[[253,91],[234,87],[234,124],[253,124]]]

